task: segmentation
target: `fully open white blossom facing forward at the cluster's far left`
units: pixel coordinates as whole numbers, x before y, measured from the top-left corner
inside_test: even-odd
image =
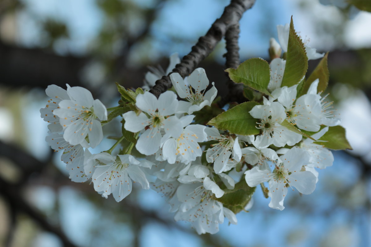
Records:
[[[100,121],[107,120],[106,107],[83,87],[68,87],[67,93],[70,100],[60,101],[59,109],[54,110],[64,130],[63,138],[76,145],[89,136],[90,146],[98,146],[103,139]]]

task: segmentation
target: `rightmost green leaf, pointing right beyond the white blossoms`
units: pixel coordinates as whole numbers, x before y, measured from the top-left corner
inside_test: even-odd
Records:
[[[328,127],[328,131],[319,140],[314,143],[333,150],[353,149],[345,137],[345,128],[342,126]]]

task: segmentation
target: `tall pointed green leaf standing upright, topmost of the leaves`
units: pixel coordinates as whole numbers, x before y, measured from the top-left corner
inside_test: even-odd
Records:
[[[286,67],[283,73],[281,87],[294,86],[305,76],[308,69],[308,57],[305,53],[303,41],[296,34],[291,17],[289,43],[286,54]]]

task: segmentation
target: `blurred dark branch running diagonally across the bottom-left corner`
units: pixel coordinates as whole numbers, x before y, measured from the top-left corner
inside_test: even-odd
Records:
[[[40,214],[38,211],[33,209],[27,201],[22,197],[21,188],[15,184],[8,183],[0,177],[0,194],[9,201],[14,210],[27,214],[30,218],[36,221],[40,227],[45,231],[54,233],[60,238],[65,247],[77,247],[75,244],[71,243],[69,239],[65,236],[62,230],[59,227],[51,225],[45,217]]]

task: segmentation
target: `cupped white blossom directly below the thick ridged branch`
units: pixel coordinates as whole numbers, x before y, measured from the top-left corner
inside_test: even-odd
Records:
[[[212,83],[211,89],[205,93],[207,86],[209,86],[209,79],[207,79],[203,68],[197,68],[190,74],[189,85],[185,83],[179,73],[170,74],[170,79],[179,97],[188,101],[179,101],[177,113],[192,114],[204,106],[210,106],[216,97],[217,90],[214,83]]]

